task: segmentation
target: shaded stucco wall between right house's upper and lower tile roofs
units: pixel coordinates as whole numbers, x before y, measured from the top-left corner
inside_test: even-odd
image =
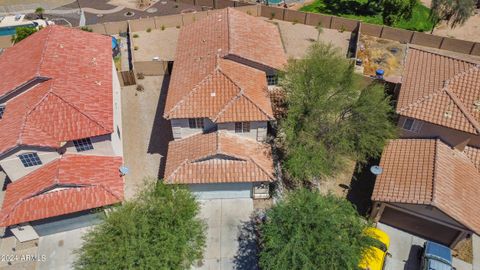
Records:
[[[435,138],[439,137],[452,147],[464,145],[467,140],[469,145],[480,147],[480,137],[470,133],[434,125],[423,122],[422,128],[418,133],[402,129],[406,117],[400,116],[398,126],[401,128],[401,137],[404,138]]]

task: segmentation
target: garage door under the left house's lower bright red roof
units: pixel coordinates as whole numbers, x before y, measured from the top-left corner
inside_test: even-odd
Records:
[[[102,222],[102,215],[103,212],[91,213],[90,211],[84,211],[75,214],[34,221],[31,222],[31,225],[39,236],[45,236],[99,224]]]

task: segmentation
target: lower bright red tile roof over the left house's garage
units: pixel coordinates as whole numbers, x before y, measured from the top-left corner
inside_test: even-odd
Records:
[[[65,155],[7,186],[0,226],[111,205],[123,200],[121,157]]]

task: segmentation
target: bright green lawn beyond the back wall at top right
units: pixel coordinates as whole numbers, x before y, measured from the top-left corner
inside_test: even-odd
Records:
[[[378,7],[375,3],[371,3],[368,6],[367,3],[366,0],[315,0],[312,4],[302,7],[300,11],[330,14],[383,25],[381,7]],[[429,13],[429,8],[417,2],[417,5],[413,8],[412,18],[410,20],[400,20],[393,27],[419,32],[430,31],[433,23],[428,20]]]

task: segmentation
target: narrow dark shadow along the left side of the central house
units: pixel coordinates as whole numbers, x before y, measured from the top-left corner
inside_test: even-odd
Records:
[[[165,102],[167,100],[168,85],[170,76],[164,75],[162,87],[160,89],[160,98],[158,99],[157,111],[153,120],[152,133],[148,144],[147,153],[160,154],[160,166],[158,168],[158,178],[161,179],[165,173],[165,162],[168,150],[168,143],[173,140],[172,127],[170,121],[163,118],[165,111]]]

